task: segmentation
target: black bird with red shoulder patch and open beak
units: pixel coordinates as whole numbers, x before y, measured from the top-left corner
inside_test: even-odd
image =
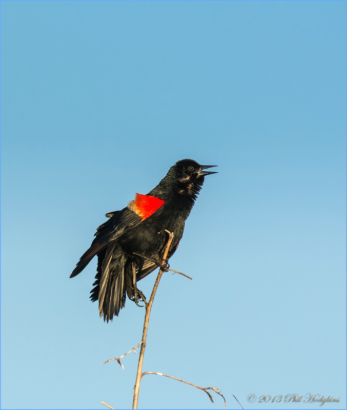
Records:
[[[174,233],[168,259],[176,251],[204,177],[216,174],[203,171],[211,167],[215,165],[182,159],[147,195],[136,194],[126,208],[106,214],[110,219],[97,228],[90,248],[70,276],[78,275],[97,255],[95,288],[90,298],[99,300],[104,320],[118,316],[125,306],[126,293],[136,304],[139,297],[145,300],[136,282],[159,266],[168,241],[165,230]]]

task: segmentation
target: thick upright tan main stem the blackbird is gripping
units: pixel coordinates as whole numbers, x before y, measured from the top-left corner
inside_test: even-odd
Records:
[[[164,255],[162,256],[162,265],[165,265],[170,245],[172,242],[172,239],[174,237],[173,232],[169,232],[165,230],[169,234],[169,239],[168,243],[166,244],[165,252]],[[146,348],[146,339],[147,339],[147,332],[148,332],[148,323],[149,323],[149,317],[151,314],[151,309],[152,309],[152,304],[154,300],[155,293],[158,289],[159,281],[161,279],[162,274],[165,272],[165,268],[160,268],[159,273],[157,276],[157,279],[154,283],[153,291],[151,294],[151,297],[149,299],[148,304],[146,305],[146,315],[145,315],[145,322],[144,322],[144,330],[142,332],[142,344],[141,344],[141,350],[140,350],[140,355],[138,358],[138,366],[137,366],[137,374],[136,374],[136,382],[135,382],[135,387],[134,387],[134,399],[133,399],[133,408],[137,408],[137,403],[138,403],[138,394],[140,391],[140,383],[141,383],[141,378],[142,378],[142,364],[144,363],[144,355],[145,355],[145,348]]]

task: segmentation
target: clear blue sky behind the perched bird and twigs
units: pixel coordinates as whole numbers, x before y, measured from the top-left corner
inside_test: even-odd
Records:
[[[144,308],[106,324],[105,213],[218,165],[154,301],[144,371],[228,408],[346,407],[346,3],[1,2],[2,408],[130,408]],[[156,274],[140,282],[150,295]],[[249,394],[340,398],[250,403]],[[160,376],[141,408],[222,408]]]

